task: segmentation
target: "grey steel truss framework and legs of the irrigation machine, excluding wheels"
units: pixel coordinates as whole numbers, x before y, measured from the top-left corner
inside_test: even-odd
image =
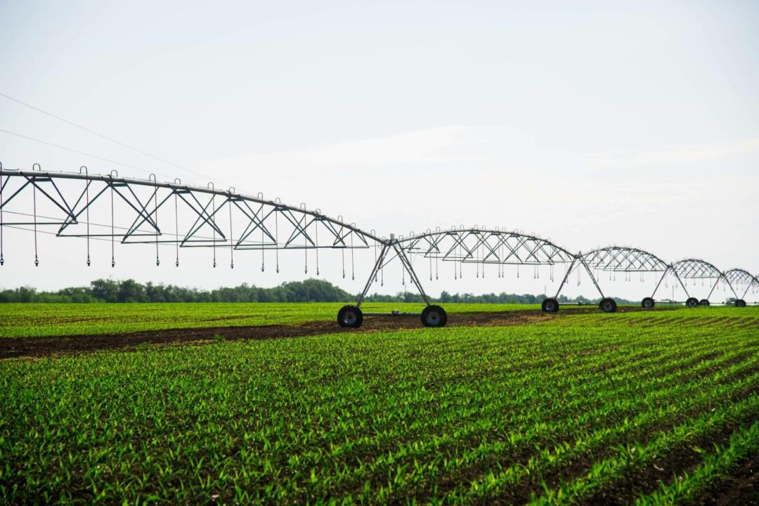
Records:
[[[20,187],[17,187],[10,196],[4,193],[8,184],[14,178],[20,179]],[[65,195],[58,184],[64,180],[83,181],[84,187],[73,196]],[[58,182],[56,182],[58,181]],[[138,196],[137,188],[147,190],[145,196]],[[21,220],[8,222],[3,216],[3,210],[8,203],[14,201],[25,190],[32,190],[34,202],[33,220]],[[42,217],[36,215],[37,195],[51,202],[61,215],[58,217]],[[124,230],[115,231],[112,226],[111,233],[93,233],[90,230],[90,209],[93,203],[110,194],[111,209],[115,199],[125,203],[131,212],[134,212],[134,221]],[[219,199],[219,200],[217,200]],[[173,200],[173,202],[172,202]],[[184,233],[175,234],[163,232],[159,227],[159,211],[171,207],[178,213],[179,203],[183,209],[189,209],[194,217],[194,223]],[[218,204],[218,205],[217,205]],[[232,230],[231,213],[236,212],[247,220],[243,230],[235,235]],[[229,215],[228,228],[221,225],[222,213]],[[80,225],[82,215],[85,215],[87,230],[76,233],[72,231],[73,225]],[[279,218],[284,219],[285,224],[291,228],[286,240],[279,240]],[[52,221],[48,221],[52,220]],[[273,223],[272,223],[273,222]],[[357,228],[354,223],[343,222],[342,216],[331,218],[324,215],[320,209],[306,209],[301,206],[288,206],[279,199],[266,200],[263,194],[249,196],[237,193],[234,187],[228,190],[216,190],[213,184],[206,187],[197,187],[182,184],[176,179],[174,182],[157,181],[151,174],[149,179],[121,178],[116,171],[111,174],[89,174],[86,167],[77,172],[49,172],[42,171],[39,165],[34,165],[31,171],[11,171],[2,168],[0,164],[0,265],[4,263],[2,256],[2,230],[7,227],[20,227],[33,225],[35,231],[38,227],[55,225],[58,227],[55,235],[58,237],[85,237],[88,240],[96,237],[118,238],[121,244],[156,244],[156,262],[158,260],[158,244],[175,244],[179,247],[228,247],[232,250],[317,250],[317,273],[318,273],[318,250],[323,248],[339,250],[355,250],[375,248],[375,262],[372,272],[364,285],[364,290],[359,296],[357,305],[361,306],[368,291],[377,275],[389,262],[398,259],[405,272],[408,272],[411,283],[420,292],[424,302],[430,305],[430,299],[424,292],[420,278],[414,271],[411,256],[421,256],[432,261],[459,262],[460,264],[475,263],[483,266],[499,266],[499,277],[502,276],[502,266],[555,266],[568,264],[565,276],[559,284],[556,297],[567,283],[568,277],[576,269],[583,268],[590,276],[594,286],[603,298],[603,291],[597,281],[594,270],[603,272],[662,272],[662,276],[654,289],[656,294],[661,282],[669,273],[675,275],[682,285],[685,293],[688,289],[682,281],[684,278],[716,279],[710,295],[720,281],[726,281],[736,298],[739,298],[734,282],[748,282],[748,289],[754,284],[759,284],[756,278],[742,269],[732,269],[727,273],[720,272],[709,262],[700,259],[684,259],[673,264],[667,264],[653,253],[639,250],[633,247],[605,247],[591,250],[587,253],[570,253],[563,247],[559,247],[549,239],[531,234],[523,234],[518,231],[508,231],[501,228],[464,228],[452,227],[448,230],[427,230],[422,234],[411,233],[408,237],[391,234],[390,239],[378,237],[374,231],[364,231]],[[207,226],[212,231],[213,237],[203,237],[199,233]],[[326,233],[329,240],[324,243],[319,241],[319,230]],[[254,234],[256,237],[254,239]],[[258,236],[260,234],[260,237]],[[172,237],[173,236],[173,237]],[[218,236],[218,237],[217,237]],[[222,246],[219,246],[222,244]],[[88,243],[89,247],[89,243]],[[376,251],[379,248],[379,256]],[[89,249],[88,249],[89,250]],[[307,253],[306,253],[307,254]],[[279,257],[278,257],[279,258]],[[37,258],[35,257],[37,263]],[[89,253],[87,259],[90,262]],[[178,263],[178,255],[177,255]],[[114,262],[115,265],[115,262]],[[216,253],[214,253],[214,266],[216,266]],[[231,260],[234,266],[234,259]],[[262,265],[263,269],[263,265]],[[279,272],[279,260],[277,261]],[[306,268],[307,272],[307,268]],[[461,270],[459,270],[461,272]],[[479,270],[477,271],[479,275]],[[345,276],[345,269],[343,275]],[[430,279],[432,272],[430,269]],[[553,280],[553,269],[552,269]]]

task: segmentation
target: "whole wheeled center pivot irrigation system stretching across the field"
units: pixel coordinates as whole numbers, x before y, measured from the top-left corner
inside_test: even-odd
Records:
[[[342,256],[342,275],[346,269],[355,278],[354,252],[373,250],[373,268],[364,290],[355,305],[343,306],[338,323],[343,327],[360,327],[364,316],[415,315],[427,327],[446,325],[446,311],[430,302],[420,276],[424,264],[429,266],[430,281],[443,270],[441,262],[452,266],[454,279],[463,278],[464,264],[476,266],[476,276],[505,277],[506,266],[520,267],[525,274],[532,270],[540,277],[540,267],[547,267],[550,281],[554,269],[562,268],[562,281],[555,297],[543,300],[543,311],[559,310],[559,294],[570,276],[576,272],[578,284],[581,272],[590,276],[600,294],[600,310],[616,311],[616,302],[603,294],[600,286],[605,275],[609,280],[617,274],[631,278],[647,272],[659,278],[650,297],[641,306],[651,308],[661,284],[674,278],[685,290],[688,307],[707,306],[709,297],[719,284],[726,285],[735,296],[735,306],[745,306],[749,291],[756,293],[759,278],[742,269],[721,272],[709,262],[685,259],[675,263],[664,262],[652,253],[631,247],[605,247],[587,253],[570,253],[549,239],[507,231],[501,228],[450,228],[427,230],[423,234],[407,237],[390,234],[389,239],[378,237],[375,231],[364,231],[354,223],[346,223],[342,216],[331,218],[320,209],[307,209],[305,204],[288,206],[279,199],[266,200],[238,193],[234,187],[216,189],[212,183],[206,187],[157,181],[151,174],[148,179],[121,178],[111,174],[90,174],[86,167],[78,172],[46,172],[35,164],[30,171],[2,168],[0,164],[0,266],[5,265],[3,253],[4,229],[21,229],[33,232],[34,265],[39,265],[38,234],[55,237],[79,237],[87,244],[87,266],[90,266],[90,241],[110,243],[111,266],[116,265],[115,244],[143,244],[155,248],[156,266],[161,264],[161,253],[166,247],[172,250],[172,261],[179,266],[181,248],[209,248],[213,267],[228,259],[235,267],[235,253],[241,250],[260,251],[261,270],[266,267],[267,250],[273,252],[275,269],[279,272],[279,252],[299,250],[304,258],[304,272],[309,265],[320,273],[320,250],[339,250]],[[163,248],[160,248],[163,247]],[[269,253],[271,262],[272,253]],[[385,267],[394,260],[402,266],[403,283],[408,275],[411,284],[419,291],[426,307],[421,313],[364,313],[361,304],[373,283],[383,282]],[[418,266],[418,262],[423,264]],[[417,268],[414,263],[417,262]],[[381,280],[381,281],[380,281]],[[688,281],[701,280],[710,285],[706,298],[698,300],[688,292]],[[736,288],[739,291],[736,291]],[[745,288],[745,290],[743,290]],[[723,287],[724,289],[724,287]],[[739,295],[741,293],[741,295]],[[677,303],[675,300],[660,302]]]

